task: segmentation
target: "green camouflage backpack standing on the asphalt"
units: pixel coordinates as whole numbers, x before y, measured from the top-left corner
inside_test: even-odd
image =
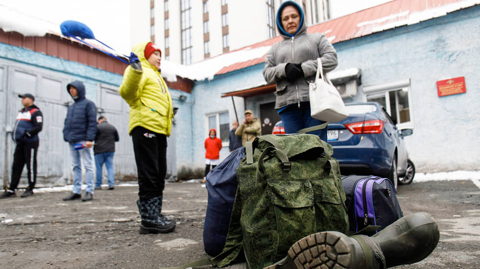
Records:
[[[212,264],[224,267],[244,254],[247,268],[262,269],[284,258],[304,236],[348,233],[346,197],[331,145],[313,134],[268,134],[245,147],[227,241]]]

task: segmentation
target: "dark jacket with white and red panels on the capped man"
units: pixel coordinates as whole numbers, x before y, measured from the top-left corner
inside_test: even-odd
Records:
[[[43,115],[36,105],[22,108],[18,113],[12,139],[16,143],[38,141],[38,133],[42,131]]]

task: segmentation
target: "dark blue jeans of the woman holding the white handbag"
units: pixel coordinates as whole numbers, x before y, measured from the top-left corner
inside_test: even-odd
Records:
[[[295,134],[303,128],[308,128],[325,123],[324,121],[316,120],[310,114],[310,102],[301,102],[300,108],[298,104],[290,105],[282,110],[280,113],[285,134]],[[316,134],[323,141],[327,141],[327,129],[309,132],[308,134]]]

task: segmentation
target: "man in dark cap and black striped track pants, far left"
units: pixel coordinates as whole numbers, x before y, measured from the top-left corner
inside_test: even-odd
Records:
[[[6,188],[5,192],[0,195],[0,199],[17,196],[15,189],[18,186],[25,164],[28,171],[28,187],[21,197],[33,195],[33,188],[37,181],[38,133],[42,131],[43,115],[40,109],[33,104],[35,97],[32,94],[19,94],[18,97],[22,98],[23,108],[17,116],[12,132],[16,147],[15,153],[13,153],[11,182],[10,187]]]

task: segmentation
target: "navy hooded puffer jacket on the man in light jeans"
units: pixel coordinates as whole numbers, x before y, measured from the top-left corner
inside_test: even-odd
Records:
[[[97,134],[97,107],[95,103],[85,98],[85,86],[80,81],[74,81],[66,86],[70,94],[70,86],[77,89],[75,101],[68,107],[63,140],[67,142],[93,141]],[[71,94],[70,94],[71,96]]]

